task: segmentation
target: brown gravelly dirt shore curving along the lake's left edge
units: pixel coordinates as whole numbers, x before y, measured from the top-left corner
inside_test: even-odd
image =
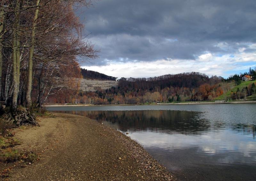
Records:
[[[9,180],[172,180],[138,143],[83,116],[54,113],[41,127],[18,131],[41,160],[11,171]]]

